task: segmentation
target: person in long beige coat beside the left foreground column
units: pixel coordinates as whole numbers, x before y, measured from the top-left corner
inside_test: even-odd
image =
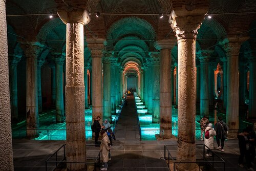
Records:
[[[110,140],[105,131],[102,130],[100,134],[102,136],[100,151],[101,151],[102,162],[103,162],[103,165],[102,165],[103,168],[101,168],[101,170],[108,170],[109,153],[110,153],[110,146],[111,146]]]

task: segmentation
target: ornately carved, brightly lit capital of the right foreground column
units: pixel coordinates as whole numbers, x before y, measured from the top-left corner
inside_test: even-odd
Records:
[[[177,39],[196,39],[197,30],[202,25],[204,18],[204,15],[175,17],[171,26],[176,33]]]

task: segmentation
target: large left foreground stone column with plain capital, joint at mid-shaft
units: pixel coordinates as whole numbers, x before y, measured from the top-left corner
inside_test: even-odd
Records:
[[[67,25],[66,43],[66,156],[67,162],[86,161],[84,119],[83,26],[90,22],[82,8],[58,8],[57,13]],[[68,164],[68,170],[83,170],[84,164]]]

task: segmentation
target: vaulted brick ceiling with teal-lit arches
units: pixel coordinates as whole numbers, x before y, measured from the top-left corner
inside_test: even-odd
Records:
[[[168,24],[168,17],[160,19],[156,15],[133,14],[169,14],[171,10],[181,6],[194,8],[205,1],[178,1],[178,0],[8,0],[6,2],[8,24],[9,53],[20,53],[20,41],[38,41],[45,45],[50,53],[65,53],[66,25],[58,15],[52,19],[48,15],[56,14],[61,6],[73,6],[87,9],[91,15],[91,22],[84,26],[84,39],[92,37],[105,38],[108,42],[106,50],[115,51],[114,56],[125,65],[127,59],[136,59],[140,67],[146,62],[148,52],[156,51],[154,41],[174,38],[175,34]],[[219,61],[223,52],[218,41],[227,35],[250,36],[242,46],[241,51],[256,49],[256,10],[255,0],[210,0],[209,14],[199,29],[197,36],[197,51],[200,49],[215,50],[211,60]],[[112,13],[127,15],[101,15],[97,18],[94,13]],[[229,14],[226,13],[239,13]],[[27,15],[28,14],[28,15]],[[130,15],[128,15],[130,14]],[[12,16],[15,15],[15,16]],[[89,59],[89,49],[85,46],[85,58]],[[177,48],[172,52],[176,61]],[[129,61],[129,60],[128,60]]]

